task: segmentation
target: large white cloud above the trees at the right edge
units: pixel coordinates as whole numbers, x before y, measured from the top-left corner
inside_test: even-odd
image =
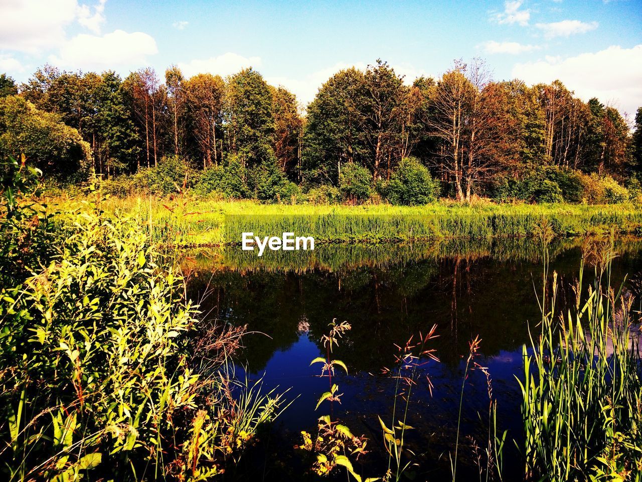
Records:
[[[611,46],[564,60],[516,64],[512,75],[528,84],[559,79],[585,101],[597,97],[634,114],[642,105],[642,44],[630,49]]]

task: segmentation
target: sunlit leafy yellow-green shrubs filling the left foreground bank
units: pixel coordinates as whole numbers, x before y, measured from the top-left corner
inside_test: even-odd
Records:
[[[281,406],[232,379],[242,330],[201,325],[140,220],[92,202],[58,213],[49,232],[21,183],[6,180],[21,195],[5,195],[0,219],[3,233],[27,228],[3,260],[3,274],[24,268],[22,283],[0,280],[4,478],[205,480],[237,461]],[[15,236],[1,242],[11,249]]]

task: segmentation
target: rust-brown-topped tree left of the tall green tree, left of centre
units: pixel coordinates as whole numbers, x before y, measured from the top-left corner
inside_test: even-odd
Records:
[[[222,132],[225,82],[218,75],[198,74],[186,80],[183,89],[203,167],[218,165],[219,159],[223,159],[223,142],[217,139]]]

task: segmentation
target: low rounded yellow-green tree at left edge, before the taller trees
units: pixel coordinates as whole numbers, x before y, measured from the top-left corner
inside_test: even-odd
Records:
[[[91,148],[60,116],[19,96],[0,99],[0,152],[27,161],[44,174],[72,175],[91,168]]]

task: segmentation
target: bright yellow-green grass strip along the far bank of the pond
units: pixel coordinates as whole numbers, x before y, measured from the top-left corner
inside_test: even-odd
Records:
[[[85,199],[85,202],[87,200]],[[51,199],[62,210],[76,200]],[[189,197],[112,198],[101,204],[110,213],[139,217],[152,239],[181,247],[239,243],[242,231],[256,235],[315,237],[317,243],[426,241],[447,238],[531,237],[543,219],[560,237],[600,235],[614,230],[642,234],[642,210],[632,204],[435,203],[426,206],[313,206],[210,201]]]

